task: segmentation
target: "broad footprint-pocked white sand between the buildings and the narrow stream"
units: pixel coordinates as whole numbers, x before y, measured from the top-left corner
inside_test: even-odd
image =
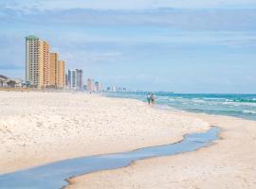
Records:
[[[74,157],[171,144],[185,133],[206,129],[209,124],[201,119],[156,110],[137,100],[0,92],[0,174]]]

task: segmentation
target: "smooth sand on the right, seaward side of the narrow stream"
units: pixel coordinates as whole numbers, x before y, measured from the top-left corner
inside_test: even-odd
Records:
[[[68,189],[255,189],[256,122],[186,113],[223,129],[214,146],[71,180]]]

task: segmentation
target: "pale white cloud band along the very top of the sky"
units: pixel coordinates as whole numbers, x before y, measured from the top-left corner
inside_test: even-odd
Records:
[[[203,9],[256,6],[255,0],[0,0],[10,9]]]

